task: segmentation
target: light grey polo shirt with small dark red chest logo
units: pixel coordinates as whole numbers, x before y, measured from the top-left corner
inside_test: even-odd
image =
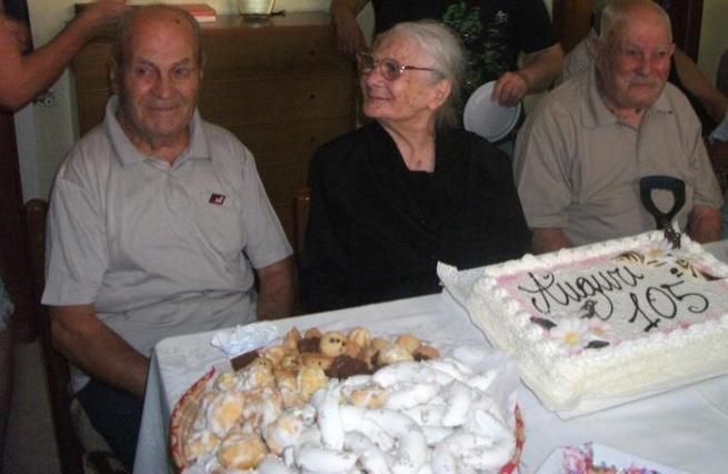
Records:
[[[169,165],[134,148],[117,107],[56,178],[42,303],[93,304],[146,356],[163,337],[255,320],[252,268],[292,251],[252,155],[196,111]]]

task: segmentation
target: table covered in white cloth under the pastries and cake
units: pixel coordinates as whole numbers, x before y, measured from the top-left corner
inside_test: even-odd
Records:
[[[707,247],[728,261],[728,240]],[[456,344],[487,344],[465,309],[447,293],[319,313],[271,322],[280,334],[291,326],[348,328],[366,325],[373,334],[411,332]],[[210,345],[213,333],[161,340],[154,348],[142,415],[134,472],[170,470],[168,428],[182,393],[213,364],[225,361]],[[428,335],[430,335],[428,337]],[[543,408],[526,387],[519,392],[526,424],[521,472],[531,473],[559,447],[606,444],[639,457],[692,473],[728,470],[728,376],[715,377],[602,412],[564,421]]]

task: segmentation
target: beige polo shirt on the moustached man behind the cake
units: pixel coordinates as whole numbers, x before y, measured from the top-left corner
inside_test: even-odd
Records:
[[[539,101],[518,132],[513,168],[529,227],[559,228],[575,246],[655,229],[639,195],[646,176],[685,182],[680,229],[694,206],[722,205],[700,121],[682,92],[667,83],[635,128],[605,106],[594,65]],[[659,209],[672,207],[668,191],[652,197]]]

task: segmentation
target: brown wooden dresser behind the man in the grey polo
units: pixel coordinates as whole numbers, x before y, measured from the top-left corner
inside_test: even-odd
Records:
[[[255,154],[295,245],[295,197],[306,186],[311,155],[355,128],[355,66],[337,52],[327,13],[290,13],[263,22],[220,16],[201,26],[207,63],[200,112]],[[100,32],[72,65],[81,134],[103,119],[111,34]]]

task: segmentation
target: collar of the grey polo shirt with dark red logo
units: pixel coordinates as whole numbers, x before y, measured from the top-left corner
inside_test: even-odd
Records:
[[[116,151],[117,157],[121,161],[122,166],[132,165],[136,162],[141,162],[148,159],[153,159],[149,155],[144,155],[129,140],[127,134],[121,128],[119,120],[117,119],[117,111],[119,110],[119,97],[111,96],[107,102],[104,124],[106,132],[111,140],[113,150]],[[202,128],[202,118],[198,109],[195,109],[195,115],[190,120],[190,145],[187,149],[174,160],[174,164],[178,165],[188,159],[210,159],[210,147],[205,136],[205,130]]]

